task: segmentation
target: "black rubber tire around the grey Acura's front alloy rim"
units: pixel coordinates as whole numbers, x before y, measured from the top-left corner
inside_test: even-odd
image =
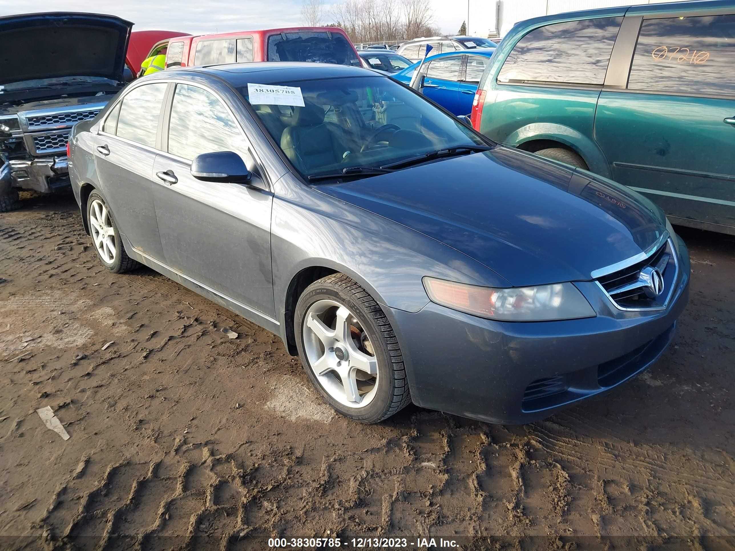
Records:
[[[323,388],[309,365],[304,350],[304,320],[309,307],[319,300],[345,306],[368,334],[378,362],[376,395],[362,408],[344,406]],[[315,389],[339,414],[365,424],[380,422],[411,403],[403,353],[390,321],[379,304],[359,284],[344,273],[334,273],[315,281],[298,298],[294,314],[294,334],[301,365]]]

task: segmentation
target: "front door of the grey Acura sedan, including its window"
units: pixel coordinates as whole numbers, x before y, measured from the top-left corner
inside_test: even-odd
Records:
[[[153,168],[166,264],[273,317],[273,194],[255,185],[200,181],[190,173],[194,157],[212,151],[234,151],[254,169],[242,129],[221,98],[190,84],[176,84],[168,129],[168,152],[157,156]],[[253,178],[258,184],[259,177]]]

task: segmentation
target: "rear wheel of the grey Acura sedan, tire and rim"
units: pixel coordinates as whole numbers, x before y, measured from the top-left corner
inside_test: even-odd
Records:
[[[137,267],[125,252],[110,206],[98,192],[87,198],[87,221],[97,256],[107,270],[123,273]]]

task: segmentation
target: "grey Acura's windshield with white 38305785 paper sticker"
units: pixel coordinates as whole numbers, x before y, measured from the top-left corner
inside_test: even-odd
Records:
[[[240,93],[306,178],[420,162],[453,148],[466,154],[489,143],[387,77],[248,84]]]

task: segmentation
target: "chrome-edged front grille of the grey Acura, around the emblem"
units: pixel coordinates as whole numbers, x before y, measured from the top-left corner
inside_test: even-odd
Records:
[[[653,292],[645,281],[645,272],[642,275],[642,270],[646,267],[655,268],[661,273],[664,285],[660,295],[652,296]],[[647,259],[603,275],[597,281],[621,309],[656,309],[666,305],[675,284],[677,271],[673,244],[671,240],[667,240]]]

